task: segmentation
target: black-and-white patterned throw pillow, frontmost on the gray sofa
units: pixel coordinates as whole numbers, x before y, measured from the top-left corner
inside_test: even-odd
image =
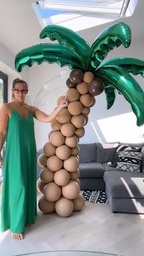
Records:
[[[140,172],[142,153],[120,152],[118,155],[117,169],[126,172]]]

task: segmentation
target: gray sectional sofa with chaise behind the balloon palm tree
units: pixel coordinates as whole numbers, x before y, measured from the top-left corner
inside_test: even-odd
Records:
[[[116,143],[112,147],[105,148],[99,143],[79,144],[81,190],[106,191],[109,207],[115,213],[144,213],[144,143],[118,142],[118,147],[121,147],[118,152],[118,147],[115,145]],[[132,159],[134,164],[131,164],[131,167],[139,165],[139,170],[134,172],[125,170],[122,167],[126,164],[117,169],[117,165],[121,164],[118,163],[120,159],[124,159],[123,161],[129,159],[129,155],[123,156],[123,152],[124,154],[128,152],[130,155],[139,152],[136,153],[140,156],[139,163],[135,163],[135,159]],[[42,150],[38,150],[37,157],[40,153]],[[39,177],[40,167],[37,167],[37,177]]]

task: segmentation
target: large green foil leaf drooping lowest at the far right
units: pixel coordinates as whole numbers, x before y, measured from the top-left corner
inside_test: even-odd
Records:
[[[117,66],[104,66],[99,68],[95,75],[108,84],[112,84],[124,98],[131,104],[137,116],[137,125],[144,123],[144,93],[139,83],[128,72]]]

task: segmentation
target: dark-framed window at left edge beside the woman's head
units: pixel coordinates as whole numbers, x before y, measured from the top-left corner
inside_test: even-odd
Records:
[[[0,71],[0,108],[7,102],[7,75]]]

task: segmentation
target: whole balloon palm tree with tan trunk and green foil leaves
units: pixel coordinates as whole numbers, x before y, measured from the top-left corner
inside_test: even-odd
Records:
[[[72,69],[66,82],[70,103],[68,109],[62,109],[51,123],[50,142],[44,145],[43,153],[38,158],[38,164],[43,169],[37,181],[38,191],[44,195],[38,203],[40,210],[43,213],[56,210],[60,216],[70,216],[73,210],[81,210],[84,206],[84,197],[79,194],[77,143],[84,136],[83,126],[88,121],[90,107],[95,104],[95,96],[104,90],[109,109],[118,90],[131,104],[137,116],[137,125],[142,125],[144,93],[129,73],[144,76],[144,62],[123,57],[101,63],[115,46],[122,44],[125,48],[129,47],[131,30],[124,23],[104,29],[91,47],[75,32],[56,25],[41,31],[40,38],[45,37],[59,43],[41,43],[23,49],[16,55],[15,68],[21,71],[24,66],[31,67],[34,63],[46,61],[49,64],[56,62],[60,67],[68,65]]]

